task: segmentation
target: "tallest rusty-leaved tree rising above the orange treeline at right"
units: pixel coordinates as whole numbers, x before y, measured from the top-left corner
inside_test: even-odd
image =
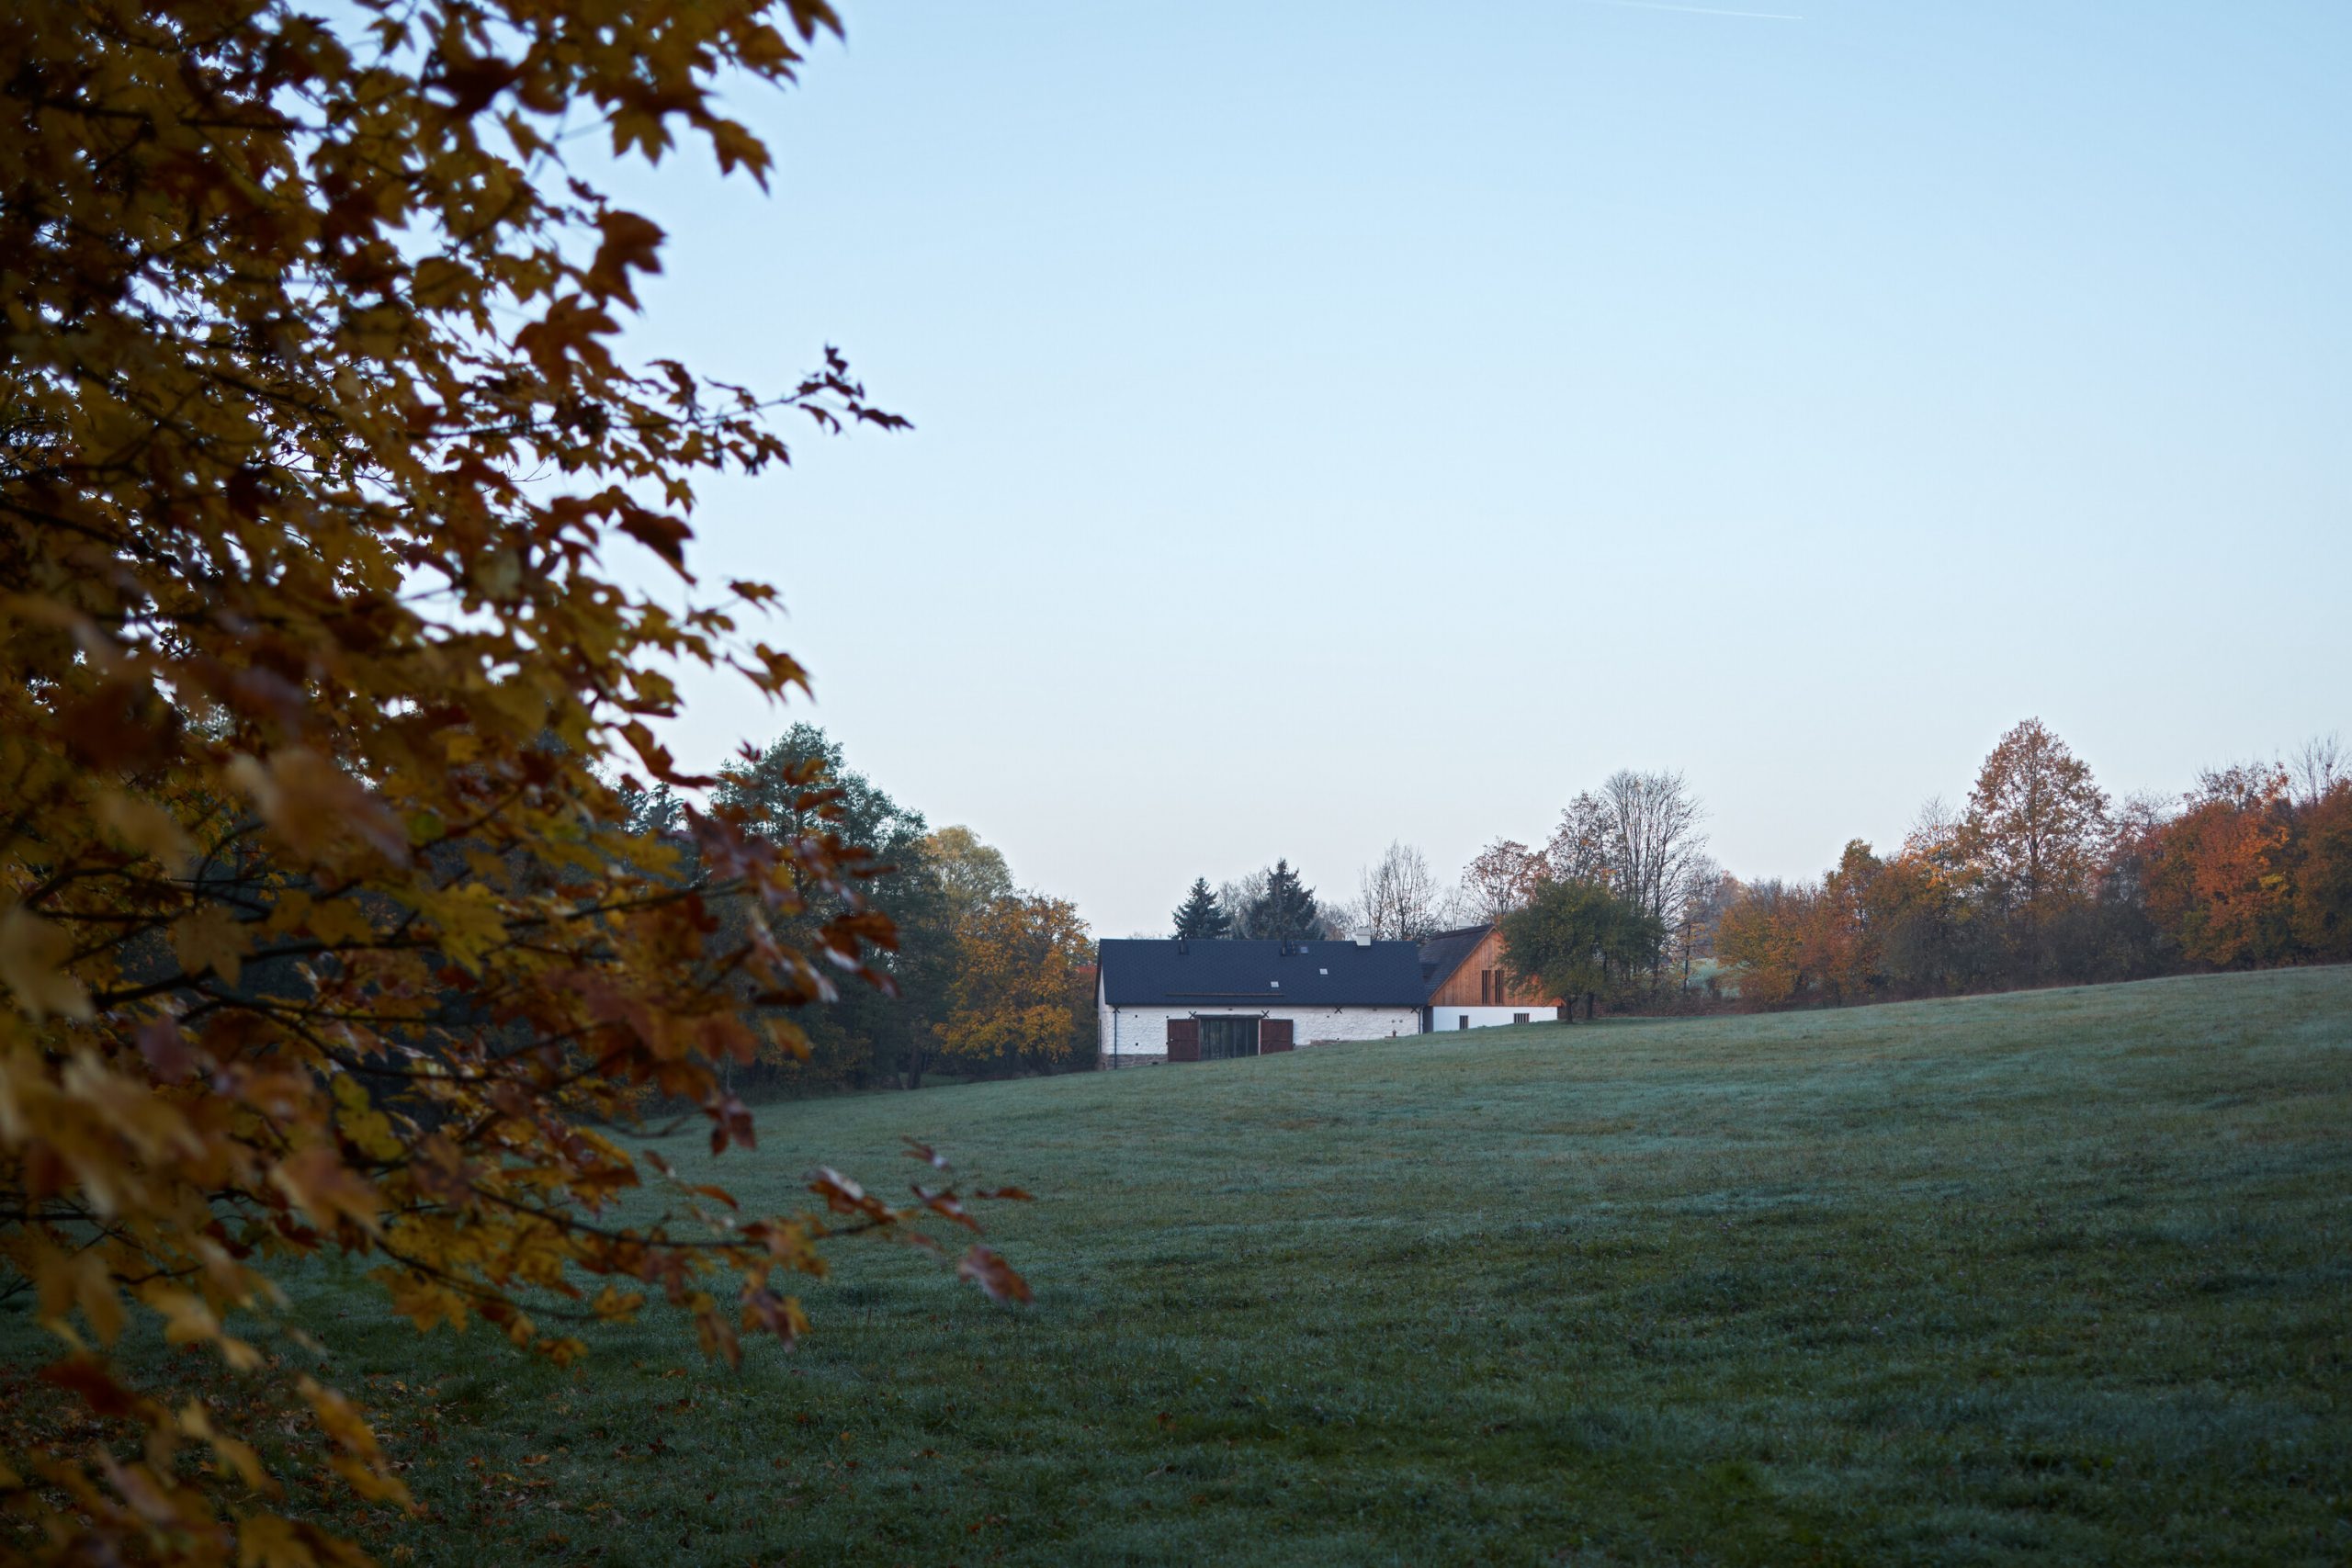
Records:
[[[1999,910],[2023,973],[2049,966],[2049,929],[2091,896],[2107,851],[2107,797],[2042,719],[1992,748],[1969,792],[1962,846]]]

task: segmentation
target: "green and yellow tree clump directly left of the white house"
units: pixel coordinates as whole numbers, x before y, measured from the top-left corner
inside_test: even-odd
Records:
[[[1021,889],[1004,853],[969,827],[924,816],[847,766],[837,741],[795,724],[731,766],[717,806],[746,806],[757,832],[788,844],[833,835],[873,870],[858,896],[887,914],[896,950],[880,957],[891,990],[842,978],[826,1001],[783,1013],[804,1058],[762,1051],[736,1067],[739,1091],[920,1088],[929,1074],[1016,1077],[1094,1065],[1094,938],[1077,905]],[[677,802],[637,802],[640,827],[675,832]],[[809,891],[804,907],[769,912],[788,945],[818,952],[816,929],[840,898]],[[741,907],[720,919],[750,919]]]

